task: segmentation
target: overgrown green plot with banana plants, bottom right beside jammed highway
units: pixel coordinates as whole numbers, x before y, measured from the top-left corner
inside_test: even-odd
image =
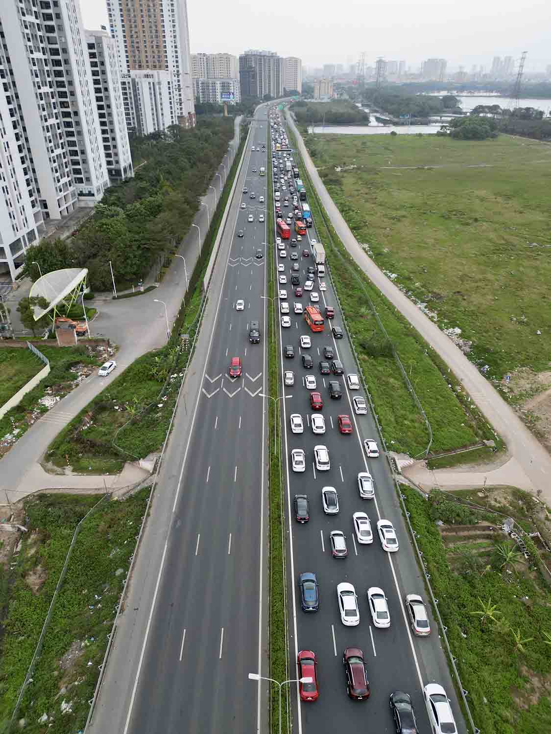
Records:
[[[549,730],[551,593],[539,567],[505,534],[481,532],[483,512],[402,492],[475,724],[489,734]],[[435,520],[453,524],[439,530]]]

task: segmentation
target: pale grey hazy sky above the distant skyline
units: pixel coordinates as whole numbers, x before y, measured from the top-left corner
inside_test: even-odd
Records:
[[[84,26],[107,25],[105,0],[80,0]],[[494,56],[518,59],[527,70],[551,64],[549,0],[188,0],[190,43],[199,51],[242,54],[247,48],[298,56],[306,66],[378,56],[447,59],[455,68],[491,66]]]

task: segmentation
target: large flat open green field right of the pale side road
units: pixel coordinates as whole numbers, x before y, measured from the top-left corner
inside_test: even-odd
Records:
[[[441,327],[461,329],[487,377],[549,367],[551,146],[505,135],[306,143],[356,238]]]

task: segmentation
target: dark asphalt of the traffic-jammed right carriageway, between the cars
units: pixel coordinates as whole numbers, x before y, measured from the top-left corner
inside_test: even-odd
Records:
[[[294,183],[294,182],[291,182]],[[287,211],[287,210],[284,210]],[[291,236],[295,236],[291,227]],[[307,237],[298,243],[300,285],[306,280],[306,267],[313,264],[313,258],[302,256],[306,246],[311,251],[311,239],[317,238],[315,222],[307,230]],[[287,244],[287,251],[292,248]],[[281,259],[275,251],[275,260],[286,264],[287,276],[290,274],[289,258]],[[290,279],[289,279],[290,280]],[[290,656],[296,660],[299,650],[313,650],[318,658],[318,680],[320,698],[314,703],[300,702],[298,685],[292,688],[292,707],[295,731],[316,731],[334,734],[343,725],[353,731],[372,731],[378,734],[395,731],[389,709],[389,694],[393,691],[406,691],[411,694],[417,716],[419,732],[428,733],[430,725],[422,698],[422,686],[438,682],[444,686],[452,700],[458,731],[464,734],[467,728],[455,696],[453,684],[444,659],[438,628],[431,615],[431,636],[416,638],[412,636],[406,620],[403,599],[408,593],[417,593],[425,601],[427,595],[414,559],[414,551],[408,539],[405,523],[400,512],[395,484],[385,457],[367,459],[362,447],[366,438],[378,439],[375,421],[372,416],[355,415],[352,406],[354,395],[364,395],[363,389],[350,391],[345,376],[358,368],[353,359],[350,344],[344,338],[335,340],[330,328],[342,326],[338,304],[334,297],[330,277],[325,277],[326,291],[321,291],[316,278],[314,291],[320,294],[320,310],[325,305],[335,308],[334,320],[325,319],[323,333],[311,333],[303,317],[295,316],[292,302],[295,300],[294,287],[287,288],[291,305],[291,327],[279,327],[281,346],[281,373],[292,370],[295,385],[286,387],[283,379],[281,394],[292,398],[281,400],[281,420],[284,421],[284,454],[287,456],[287,520],[289,523],[288,584],[290,621]],[[309,303],[309,293],[304,291],[300,299],[303,306]],[[300,335],[311,337],[311,349],[300,349]],[[283,356],[284,346],[292,344],[295,348],[294,359]],[[318,363],[323,359],[323,346],[332,346],[335,357],[345,367],[345,376],[322,375]],[[301,354],[309,353],[314,360],[313,369],[304,369]],[[325,435],[314,435],[309,426],[312,413],[309,404],[309,390],[304,385],[304,377],[313,375],[317,380],[317,390],[323,399]],[[343,390],[341,400],[332,400],[328,394],[328,379],[337,379]],[[303,417],[304,432],[295,435],[289,427],[289,414],[300,413]],[[337,427],[337,416],[349,415],[353,421],[353,435],[341,435]],[[327,446],[331,469],[316,472],[314,469],[314,446]],[[294,473],[290,462],[293,448],[303,448],[306,452],[306,472]],[[381,446],[380,446],[381,448]],[[375,500],[364,500],[359,496],[357,474],[369,468],[375,479]],[[328,516],[323,512],[322,487],[335,487],[339,493],[339,515]],[[309,497],[310,520],[304,525],[295,522],[292,499],[295,494],[306,493]],[[359,545],[353,532],[353,512],[367,512],[370,517],[374,540],[372,545]],[[378,519],[390,520],[397,532],[400,550],[386,553],[382,550],[377,536]],[[329,549],[329,533],[341,530],[347,537],[348,555],[345,559],[334,559]],[[300,609],[297,578],[305,571],[317,574],[320,589],[320,609],[317,613],[304,613]],[[357,627],[342,625],[337,606],[336,585],[341,581],[354,584],[358,596],[360,624]],[[391,627],[378,629],[372,625],[367,606],[367,588],[379,586],[388,599]],[[360,647],[367,661],[371,695],[367,701],[355,702],[347,697],[345,669],[342,653],[345,647]],[[290,677],[296,677],[297,669],[291,669]],[[366,722],[368,728],[366,728]]]

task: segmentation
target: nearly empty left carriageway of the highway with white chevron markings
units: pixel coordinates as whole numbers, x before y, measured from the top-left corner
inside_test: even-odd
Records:
[[[255,147],[266,141],[266,124],[261,107],[249,137]],[[264,730],[261,688],[248,680],[249,672],[264,667],[267,623],[267,407],[260,396],[267,376],[261,298],[266,224],[259,222],[266,178],[253,170],[265,154],[251,152],[251,144],[232,202],[239,212],[228,228],[232,243],[223,286],[210,296],[218,300],[217,316],[190,435],[173,432],[170,442],[181,446],[181,465],[171,487],[157,488],[168,493],[176,485],[173,517],[120,734]],[[255,257],[258,249],[262,258]],[[235,308],[238,299],[245,302],[242,311]],[[253,319],[260,321],[260,344],[248,340]],[[241,377],[229,377],[231,357],[241,357]]]

